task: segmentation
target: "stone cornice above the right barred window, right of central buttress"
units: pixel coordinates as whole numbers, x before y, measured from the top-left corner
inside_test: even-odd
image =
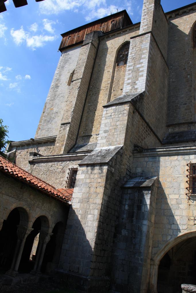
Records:
[[[133,156],[154,157],[154,156],[179,156],[196,154],[196,145],[179,147],[160,147],[154,149],[144,149],[143,152],[133,151]]]

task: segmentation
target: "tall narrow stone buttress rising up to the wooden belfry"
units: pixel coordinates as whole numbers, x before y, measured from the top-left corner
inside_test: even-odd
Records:
[[[89,82],[102,32],[92,32],[85,36],[74,71],[66,105],[63,109],[61,127],[56,139],[57,154],[67,153],[76,143],[81,115],[86,100]]]

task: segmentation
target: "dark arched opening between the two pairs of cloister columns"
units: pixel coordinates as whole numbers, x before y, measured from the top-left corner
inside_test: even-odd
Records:
[[[31,256],[34,239],[39,234],[40,231],[45,231],[45,232],[48,231],[48,228],[49,228],[48,219],[45,216],[38,217],[34,221],[32,228],[33,230],[26,238],[23,253],[21,256],[21,262],[19,265],[19,272],[21,273],[29,273],[31,272],[31,270],[33,270],[36,255],[34,258],[31,258],[30,256]]]

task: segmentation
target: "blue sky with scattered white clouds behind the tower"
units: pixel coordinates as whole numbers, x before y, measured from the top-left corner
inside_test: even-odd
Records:
[[[194,3],[162,0],[165,12]],[[34,137],[60,52],[61,33],[126,9],[140,21],[142,0],[28,0],[0,13],[0,118],[9,139]]]

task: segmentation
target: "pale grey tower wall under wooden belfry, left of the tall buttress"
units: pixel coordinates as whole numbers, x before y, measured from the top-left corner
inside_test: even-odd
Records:
[[[59,59],[51,87],[43,108],[35,138],[57,135],[61,124],[70,86],[67,85],[71,72],[75,69],[81,46],[67,49]]]

